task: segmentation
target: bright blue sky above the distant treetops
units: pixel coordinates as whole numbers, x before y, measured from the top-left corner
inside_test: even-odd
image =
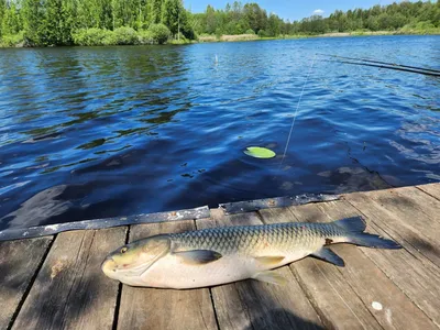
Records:
[[[184,0],[185,7],[190,9],[191,12],[204,12],[208,4],[213,6],[216,9],[224,9],[227,3],[233,3],[233,0]],[[334,10],[340,9],[346,11],[355,8],[371,8],[374,4],[389,4],[393,0],[242,0],[243,4],[246,2],[256,2],[267,11],[276,13],[285,20],[301,20],[312,14],[329,15]],[[400,2],[400,1],[396,1]]]

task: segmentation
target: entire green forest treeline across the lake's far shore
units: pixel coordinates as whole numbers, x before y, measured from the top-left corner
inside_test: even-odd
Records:
[[[199,35],[260,37],[329,32],[396,31],[438,33],[440,0],[374,6],[328,18],[286,21],[257,3],[186,10],[182,0],[0,0],[0,43],[6,46],[151,44]]]

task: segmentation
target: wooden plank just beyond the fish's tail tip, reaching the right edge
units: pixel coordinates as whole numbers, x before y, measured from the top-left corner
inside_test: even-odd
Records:
[[[403,209],[399,209],[399,207],[391,208],[389,205],[381,204],[371,198],[370,193],[352,193],[345,195],[343,199],[367,218],[381,221],[377,224],[381,224],[383,229],[386,228],[386,232],[391,235],[404,238],[408,244],[414,246],[413,250],[418,250],[418,253],[415,254],[416,257],[422,255],[420,260],[424,263],[432,263],[440,267],[439,231],[431,229],[429,222],[420,223],[420,221],[427,221],[426,218],[420,220],[425,217],[424,213],[414,215],[413,211],[409,211],[411,213],[409,217],[405,213],[407,207]],[[410,251],[410,248],[407,249]]]

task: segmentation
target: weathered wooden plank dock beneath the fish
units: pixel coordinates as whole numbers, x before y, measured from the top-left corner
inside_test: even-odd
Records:
[[[105,256],[160,232],[363,216],[402,250],[334,245],[337,267],[306,257],[289,280],[172,290],[107,278]],[[200,220],[68,231],[0,243],[0,329],[438,329],[440,184],[343,195],[340,200]]]

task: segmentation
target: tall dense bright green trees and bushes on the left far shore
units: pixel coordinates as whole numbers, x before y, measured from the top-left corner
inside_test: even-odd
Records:
[[[31,46],[165,43],[195,38],[182,0],[0,0],[0,37]],[[148,31],[148,32],[146,32]]]

